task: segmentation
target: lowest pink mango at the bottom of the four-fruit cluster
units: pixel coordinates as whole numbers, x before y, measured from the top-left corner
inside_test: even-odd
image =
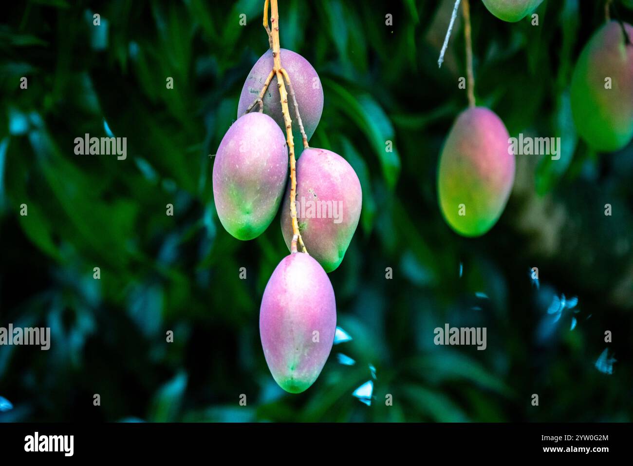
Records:
[[[327,273],[303,252],[284,257],[260,308],[261,346],[275,382],[290,393],[306,391],[327,361],[335,332],[336,302]]]

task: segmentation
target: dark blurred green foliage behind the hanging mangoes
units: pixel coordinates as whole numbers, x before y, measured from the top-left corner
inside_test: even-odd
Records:
[[[630,2],[617,4],[633,22]],[[436,195],[442,143],[467,105],[460,21],[437,69],[453,1],[280,1],[282,47],[322,79],[311,146],[341,154],[363,187],[358,230],[329,274],[338,325],[353,340],[298,395],[275,384],[259,338],[263,288],[288,254],[279,218],[256,240],[235,240],[211,190],[210,155],[268,46],[262,6],[3,7],[0,325],[50,327],[52,342],[0,347],[0,396],[14,406],[0,421],[629,421],[633,145],[592,152],[568,96],[603,2],[546,0],[532,26],[471,0],[478,104],[513,136],[560,136],[563,153],[517,156],[501,220],[467,239],[444,223]],[[108,131],[127,137],[126,160],[73,153],[75,138]],[[579,298],[574,330],[571,312],[556,323],[547,313],[560,294]],[[433,330],[447,322],[487,327],[486,351],[435,346]],[[594,366],[606,347],[611,375]],[[337,353],[356,364],[340,365]],[[365,406],[352,393],[371,379],[369,365],[375,399]]]

